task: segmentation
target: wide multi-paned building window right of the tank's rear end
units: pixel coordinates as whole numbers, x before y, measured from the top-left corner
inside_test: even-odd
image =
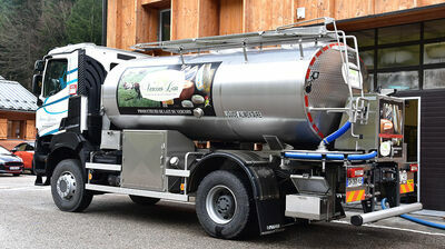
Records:
[[[352,32],[375,88],[445,88],[445,19]]]

